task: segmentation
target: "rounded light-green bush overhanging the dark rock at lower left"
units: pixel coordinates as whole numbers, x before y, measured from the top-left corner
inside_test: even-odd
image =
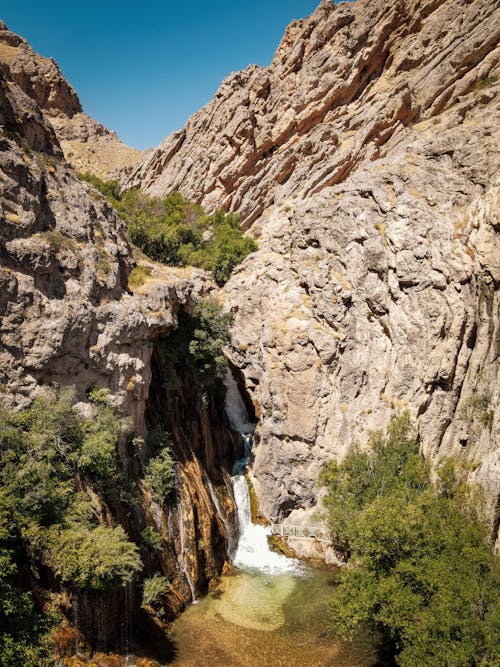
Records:
[[[50,561],[62,581],[81,589],[107,590],[132,581],[141,567],[139,550],[121,526],[80,526],[54,531]]]

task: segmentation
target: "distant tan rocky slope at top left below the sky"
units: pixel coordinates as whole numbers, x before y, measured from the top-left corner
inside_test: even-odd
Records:
[[[0,25],[0,67],[6,79],[31,98],[52,124],[65,158],[79,171],[102,178],[134,164],[140,151],[83,113],[80,100],[52,58]]]

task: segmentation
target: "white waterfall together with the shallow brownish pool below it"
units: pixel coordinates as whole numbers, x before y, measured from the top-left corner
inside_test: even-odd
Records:
[[[232,376],[226,380],[226,410],[244,439],[232,483],[239,540],[232,552],[238,570],[171,626],[174,667],[373,667],[373,642],[342,643],[328,631],[328,601],[335,573],[313,569],[270,550],[268,529],[252,523],[245,468],[254,424]],[[209,485],[210,488],[210,485]],[[215,493],[215,491],[214,491]],[[212,500],[214,498],[212,497]],[[217,511],[220,506],[214,500]],[[222,514],[220,514],[222,518]]]

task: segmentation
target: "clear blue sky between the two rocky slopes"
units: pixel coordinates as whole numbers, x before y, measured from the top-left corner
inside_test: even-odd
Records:
[[[59,63],[84,110],[137,148],[182,127],[230,72],[268,65],[319,0],[2,0],[0,18]]]

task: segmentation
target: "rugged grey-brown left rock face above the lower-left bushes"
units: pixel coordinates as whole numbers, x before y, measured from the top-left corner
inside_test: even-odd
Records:
[[[75,385],[82,396],[105,386],[139,418],[151,341],[213,285],[201,271],[173,270],[142,293],[129,291],[124,224],[65,164],[36,102],[1,71],[0,80],[3,395],[22,404],[49,382]]]

